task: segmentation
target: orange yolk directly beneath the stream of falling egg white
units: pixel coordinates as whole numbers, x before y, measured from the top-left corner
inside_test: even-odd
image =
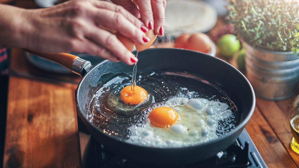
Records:
[[[135,86],[131,91],[131,85],[121,89],[121,100],[130,105],[138,105],[147,100],[147,91],[140,86]]]

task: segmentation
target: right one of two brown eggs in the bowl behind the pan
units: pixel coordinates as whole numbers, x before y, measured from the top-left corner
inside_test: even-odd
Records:
[[[188,39],[186,48],[207,54],[211,51],[210,38],[206,34],[196,33]]]

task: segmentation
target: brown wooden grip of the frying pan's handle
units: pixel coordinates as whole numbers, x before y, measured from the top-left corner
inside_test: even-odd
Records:
[[[51,61],[54,61],[56,63],[59,63],[60,65],[64,66],[65,68],[68,68],[69,70],[72,70],[72,65],[74,61],[79,58],[76,55],[68,54],[68,53],[55,53],[55,54],[48,54],[48,53],[42,53],[38,51],[32,51],[24,49],[24,51],[29,52],[31,54],[35,54],[37,56],[49,59]]]

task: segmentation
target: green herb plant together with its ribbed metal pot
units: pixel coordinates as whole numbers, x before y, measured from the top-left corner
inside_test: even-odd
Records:
[[[283,100],[299,80],[299,2],[229,0],[229,18],[244,41],[246,75],[256,95]]]

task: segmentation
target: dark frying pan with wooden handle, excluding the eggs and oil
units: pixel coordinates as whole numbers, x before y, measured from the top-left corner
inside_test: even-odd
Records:
[[[123,153],[137,161],[181,165],[205,160],[229,147],[243,131],[245,124],[254,111],[255,95],[252,86],[240,71],[225,61],[185,49],[146,49],[138,55],[139,72],[171,69],[178,72],[192,73],[207,80],[218,87],[235,103],[238,121],[235,129],[224,136],[190,147],[158,148],[126,143],[103,133],[100,128],[97,128],[96,125],[87,120],[86,113],[91,96],[96,91],[97,86],[121,72],[131,73],[131,66],[122,62],[112,63],[107,60],[93,66],[90,62],[70,54],[29,52],[60,63],[83,77],[76,90],[76,105],[79,118],[92,136],[106,148],[114,152]]]

